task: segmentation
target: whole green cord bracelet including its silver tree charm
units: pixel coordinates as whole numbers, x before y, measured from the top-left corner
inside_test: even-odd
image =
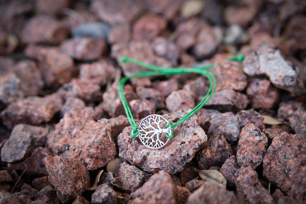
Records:
[[[243,55],[234,56],[232,58],[228,58],[226,60],[232,60],[232,61],[242,61],[244,59]],[[118,92],[120,99],[122,101],[123,108],[125,110],[127,119],[129,119],[129,122],[131,123],[131,126],[133,128],[132,138],[139,136],[140,141],[151,149],[159,149],[166,145],[166,143],[173,137],[173,129],[190,118],[193,114],[195,114],[198,110],[200,110],[207,101],[212,97],[215,89],[216,89],[216,79],[214,75],[207,71],[206,69],[209,69],[214,66],[214,64],[209,64],[202,67],[195,67],[195,68],[163,68],[158,67],[150,64],[146,64],[144,62],[141,62],[139,60],[129,58],[129,57],[122,57],[119,60],[121,63],[124,62],[130,62],[134,64],[138,64],[140,66],[143,66],[147,69],[153,70],[153,71],[141,71],[135,74],[132,74],[128,77],[122,78],[118,83]],[[132,78],[142,78],[142,77],[151,77],[151,76],[157,76],[157,75],[170,75],[170,74],[183,74],[183,73],[198,73],[205,75],[205,77],[208,78],[210,82],[209,90],[206,94],[206,96],[200,101],[200,103],[194,107],[189,113],[187,113],[183,118],[181,118],[176,123],[172,124],[171,122],[168,122],[164,117],[153,114],[148,115],[145,118],[143,118],[139,124],[139,127],[136,125],[136,122],[133,118],[131,109],[129,105],[127,104],[126,98],[123,93],[123,85],[126,81],[132,79]],[[161,126],[165,126],[166,128],[162,128]],[[163,137],[165,136],[165,137]]]

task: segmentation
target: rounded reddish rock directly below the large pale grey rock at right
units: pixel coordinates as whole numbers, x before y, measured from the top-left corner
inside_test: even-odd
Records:
[[[278,89],[273,87],[269,80],[253,78],[246,89],[253,108],[270,109],[278,102]]]

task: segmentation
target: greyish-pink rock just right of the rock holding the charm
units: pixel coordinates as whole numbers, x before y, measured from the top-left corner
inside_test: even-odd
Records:
[[[208,135],[212,136],[220,134],[225,137],[228,142],[238,140],[240,134],[240,125],[238,119],[232,112],[217,113],[212,116],[211,125],[208,130]]]

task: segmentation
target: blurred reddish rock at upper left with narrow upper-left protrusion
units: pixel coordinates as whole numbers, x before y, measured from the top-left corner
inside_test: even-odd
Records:
[[[72,59],[53,47],[29,45],[25,55],[38,60],[43,80],[48,87],[58,88],[69,82],[74,71]]]

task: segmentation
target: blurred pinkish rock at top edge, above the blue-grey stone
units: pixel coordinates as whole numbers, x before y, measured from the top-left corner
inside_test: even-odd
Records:
[[[142,1],[92,1],[91,11],[111,25],[129,24],[138,17],[143,9]]]

